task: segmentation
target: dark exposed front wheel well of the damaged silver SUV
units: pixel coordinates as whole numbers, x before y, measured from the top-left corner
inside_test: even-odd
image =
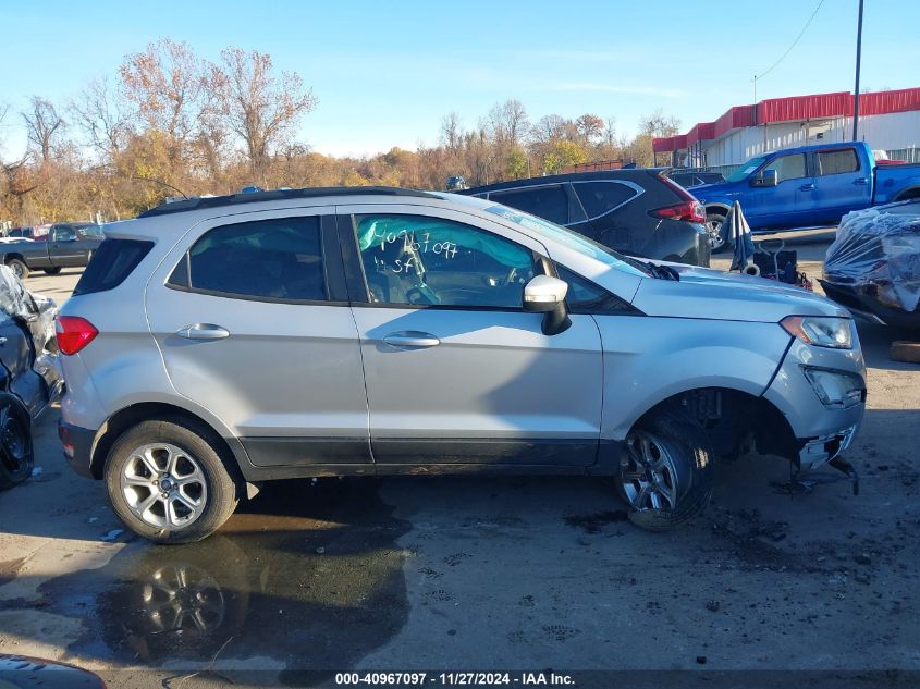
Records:
[[[762,455],[798,459],[799,442],[780,409],[764,397],[740,390],[698,387],[673,395],[646,411],[639,426],[662,408],[682,408],[708,432],[715,454],[735,458],[751,447]]]

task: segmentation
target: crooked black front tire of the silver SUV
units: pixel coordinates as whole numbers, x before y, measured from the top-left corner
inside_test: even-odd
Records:
[[[637,500],[641,483],[630,480],[642,472],[635,452],[630,452],[637,438],[652,439],[652,450],[657,447],[659,455],[666,457],[668,470],[658,472],[653,481],[648,471],[645,476],[648,483],[660,484],[671,493],[672,500],[659,496],[659,502],[673,504],[653,506],[648,494],[646,500]],[[616,477],[617,491],[630,507],[629,521],[650,531],[666,531],[699,515],[712,497],[714,458],[707,432],[680,408],[661,409],[637,423],[627,435]]]

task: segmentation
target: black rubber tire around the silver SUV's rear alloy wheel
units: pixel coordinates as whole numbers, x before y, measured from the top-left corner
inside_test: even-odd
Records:
[[[128,497],[122,490],[121,478],[126,471],[132,471],[133,467],[136,466],[139,466],[142,470],[144,469],[144,463],[138,464],[138,455],[135,451],[147,445],[158,444],[177,448],[186,462],[189,462],[192,466],[197,465],[196,468],[200,470],[203,476],[203,480],[198,481],[200,487],[204,488],[199,491],[201,506],[197,510],[197,516],[187,525],[155,525],[146,521],[133,512],[128,504]],[[130,428],[114,442],[106,460],[106,488],[109,491],[109,499],[115,514],[128,529],[155,543],[192,543],[207,538],[223,526],[223,522],[230,518],[240,502],[237,484],[228,470],[228,467],[232,466],[229,463],[233,459],[232,457],[222,457],[219,447],[220,441],[210,429],[189,423],[185,419],[149,420]],[[130,464],[131,466],[128,466]],[[179,472],[174,471],[174,473],[176,473],[176,477],[171,477],[172,482],[175,482],[175,478],[179,478]],[[164,473],[160,478],[163,477],[169,478],[170,475]],[[144,488],[132,489],[131,495],[138,502],[143,499],[154,497],[154,491],[138,495],[137,491],[142,490],[148,491]],[[160,490],[160,488],[157,488],[156,492],[159,493]],[[172,496],[179,490],[176,488],[168,493],[171,496],[168,499],[169,504],[174,504]],[[157,503],[160,502],[157,500]],[[150,508],[151,512],[155,508],[159,508],[160,512],[165,510],[163,504],[155,504]],[[151,516],[157,517],[158,515]],[[167,519],[165,515],[162,519]]]

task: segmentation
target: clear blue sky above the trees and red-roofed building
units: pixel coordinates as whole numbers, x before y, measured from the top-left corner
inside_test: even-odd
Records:
[[[789,48],[819,0],[0,0],[3,153],[25,147],[19,111],[66,103],[126,54],[184,40],[217,60],[235,46],[272,56],[318,98],[299,138],[328,155],[373,155],[438,140],[496,102],[544,114],[615,118],[631,135],[661,109],[686,132],[755,102],[752,77]],[[852,90],[858,0],[824,0],[757,99]],[[866,0],[862,86],[920,86],[920,2]]]

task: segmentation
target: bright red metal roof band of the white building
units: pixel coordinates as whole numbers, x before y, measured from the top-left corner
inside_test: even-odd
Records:
[[[729,108],[715,122],[700,122],[687,134],[652,139],[657,153],[683,150],[697,142],[720,138],[732,130],[773,124],[776,122],[800,122],[826,118],[849,118],[854,111],[854,96],[849,91],[813,94],[771,98],[749,106]],[[873,91],[859,95],[861,115],[891,114],[920,110],[920,88],[901,88],[891,91]]]

